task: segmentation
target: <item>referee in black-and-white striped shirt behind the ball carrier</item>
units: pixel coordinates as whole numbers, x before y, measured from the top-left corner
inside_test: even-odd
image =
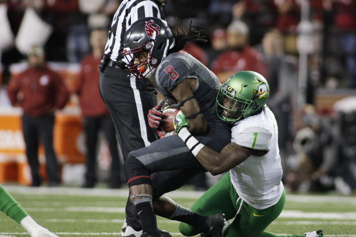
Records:
[[[122,55],[123,37],[126,29],[138,19],[158,17],[165,20],[162,8],[168,1],[124,0],[109,28],[108,41],[99,66],[99,90],[114,121],[124,161],[129,152],[150,145],[158,136],[156,130],[148,126],[147,120],[148,110],[157,105],[157,92],[148,80],[138,80],[127,70],[129,62]],[[141,223],[130,199],[127,200],[125,211],[127,226],[124,223],[121,236],[140,237]],[[161,235],[171,236],[163,230]]]

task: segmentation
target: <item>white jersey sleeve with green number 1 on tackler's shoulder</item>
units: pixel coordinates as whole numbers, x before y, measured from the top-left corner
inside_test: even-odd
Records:
[[[240,146],[256,150],[267,150],[269,142],[271,142],[272,133],[260,126],[248,126],[241,131],[233,130],[231,136],[232,142],[236,142]]]

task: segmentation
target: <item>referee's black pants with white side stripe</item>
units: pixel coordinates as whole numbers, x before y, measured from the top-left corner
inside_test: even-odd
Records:
[[[100,72],[99,90],[120,143],[124,161],[129,152],[150,145],[158,139],[155,129],[148,125],[148,110],[157,105],[156,90],[146,79],[136,79],[129,70],[106,66]],[[128,199],[127,225],[141,228],[135,206]]]

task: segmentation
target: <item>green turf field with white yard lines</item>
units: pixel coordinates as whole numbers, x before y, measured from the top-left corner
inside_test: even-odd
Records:
[[[61,237],[120,236],[128,189],[30,188],[4,185],[33,219]],[[190,207],[201,192],[174,191],[168,196]],[[178,222],[157,217],[158,227],[182,237]],[[356,197],[292,195],[267,231],[304,233],[322,229],[324,236],[356,237]],[[29,236],[0,212],[0,237]]]

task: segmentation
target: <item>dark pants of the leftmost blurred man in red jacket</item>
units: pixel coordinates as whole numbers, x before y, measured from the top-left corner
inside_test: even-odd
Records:
[[[61,181],[59,164],[53,149],[53,127],[54,114],[42,115],[40,117],[32,117],[26,113],[22,115],[23,137],[26,144],[27,161],[31,168],[33,186],[41,184],[38,162],[39,138],[41,138],[45,147],[46,172],[50,185],[59,184]]]

